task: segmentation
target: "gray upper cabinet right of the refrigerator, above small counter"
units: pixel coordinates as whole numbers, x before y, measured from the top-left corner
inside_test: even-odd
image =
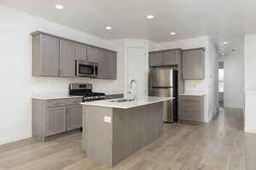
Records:
[[[205,48],[183,51],[183,79],[202,80],[205,78]]]

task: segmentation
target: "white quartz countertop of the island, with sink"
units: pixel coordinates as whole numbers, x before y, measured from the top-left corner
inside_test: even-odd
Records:
[[[108,100],[84,102],[84,103],[81,103],[81,105],[93,105],[93,106],[100,106],[100,107],[130,109],[130,108],[141,106],[141,105],[150,105],[150,104],[167,101],[171,99],[174,99],[174,98],[145,97],[143,99],[138,99],[137,101],[130,101],[130,102],[112,102],[113,100],[117,100],[117,99],[108,99]]]

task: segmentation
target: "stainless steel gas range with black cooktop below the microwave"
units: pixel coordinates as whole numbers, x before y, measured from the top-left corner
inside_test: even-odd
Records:
[[[69,95],[83,96],[83,101],[95,101],[106,98],[106,94],[92,92],[92,84],[88,83],[69,84]]]

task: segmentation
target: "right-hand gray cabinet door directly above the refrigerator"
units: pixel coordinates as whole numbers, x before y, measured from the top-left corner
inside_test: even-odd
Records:
[[[165,51],[163,65],[177,65],[179,56],[180,51],[178,50]]]

